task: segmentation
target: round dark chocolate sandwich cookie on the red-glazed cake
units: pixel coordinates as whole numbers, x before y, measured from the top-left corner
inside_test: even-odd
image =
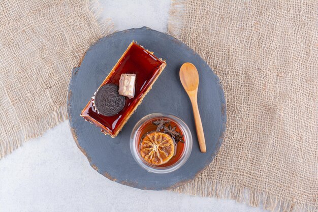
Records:
[[[98,113],[113,116],[124,107],[125,97],[119,95],[117,85],[105,84],[97,90],[94,104]]]

